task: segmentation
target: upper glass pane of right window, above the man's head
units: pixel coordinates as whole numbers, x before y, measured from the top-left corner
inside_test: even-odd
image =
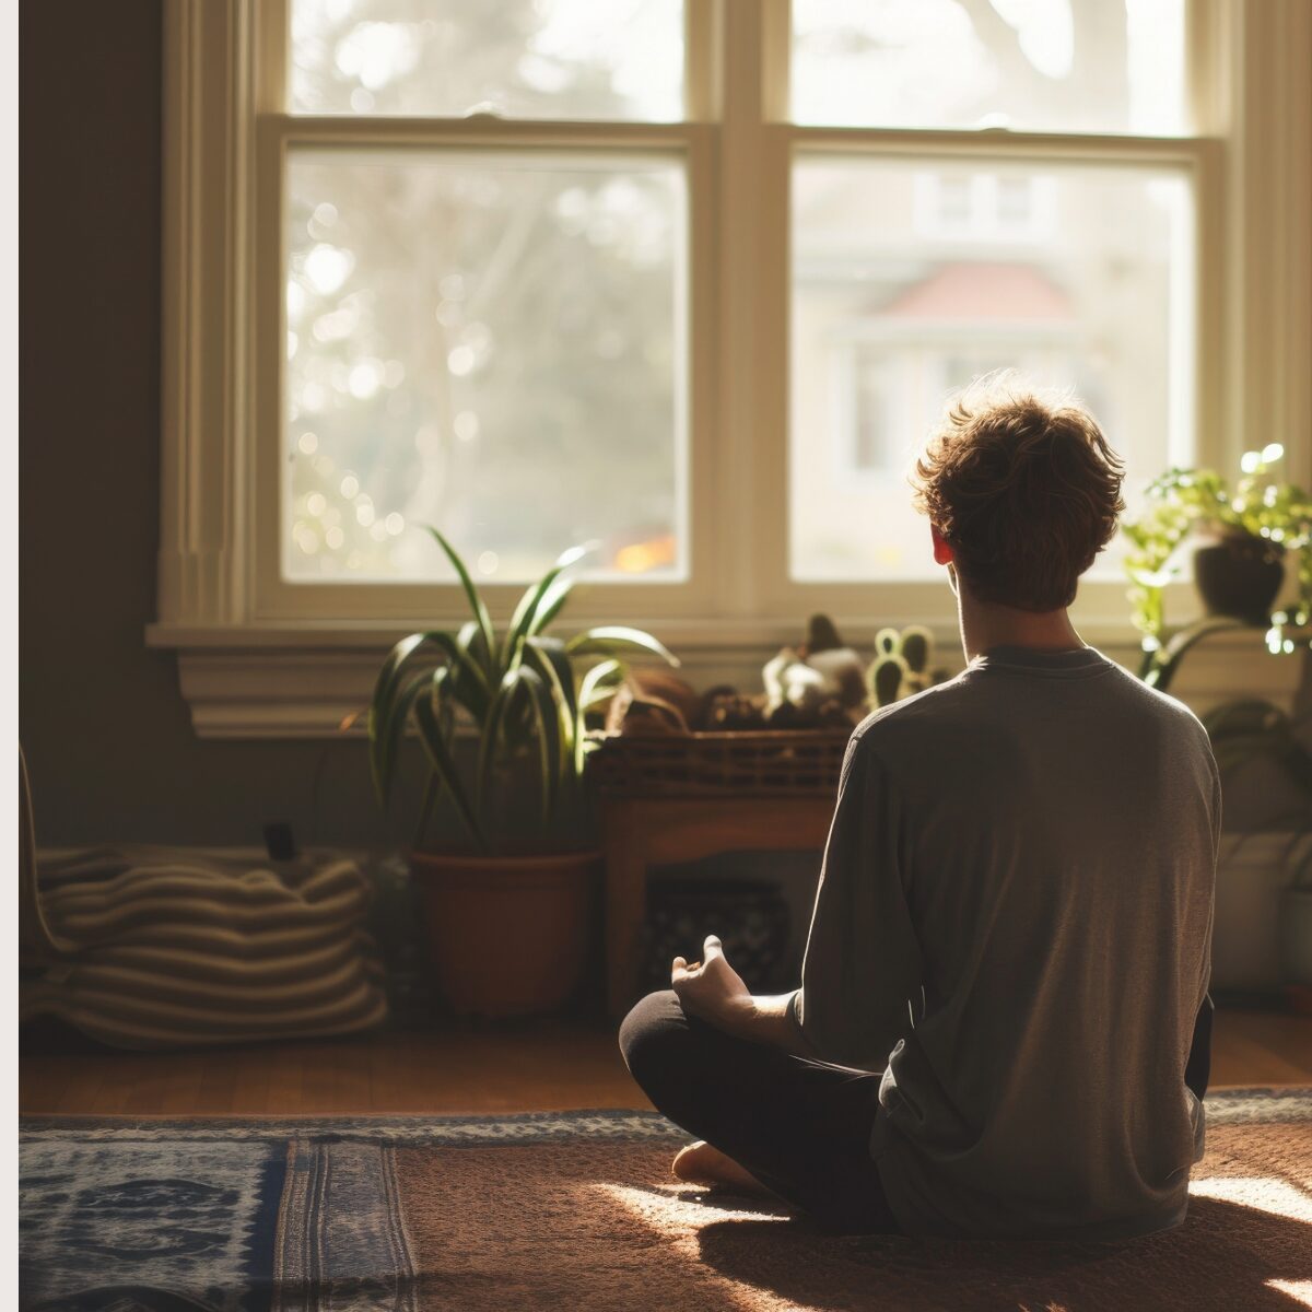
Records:
[[[1182,130],[1185,0],[792,0],[792,115]]]

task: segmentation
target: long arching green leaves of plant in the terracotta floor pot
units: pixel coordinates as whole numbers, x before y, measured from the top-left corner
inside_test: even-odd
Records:
[[[459,554],[437,529],[428,531],[450,560],[471,618],[454,632],[409,634],[383,661],[369,707],[370,771],[379,806],[386,808],[401,737],[413,724],[428,760],[415,846],[422,846],[433,808],[445,795],[474,846],[488,853],[495,848],[491,796],[509,762],[531,762],[539,830],[546,833],[552,819],[568,810],[581,782],[592,747],[588,712],[623,682],[623,657],[636,652],[670,665],[678,661],[639,628],[611,625],[568,640],[547,632],[575,585],[572,567],[589,548],[565,551],[525,590],[499,632]],[[478,737],[468,774],[457,761],[461,723],[471,724]]]

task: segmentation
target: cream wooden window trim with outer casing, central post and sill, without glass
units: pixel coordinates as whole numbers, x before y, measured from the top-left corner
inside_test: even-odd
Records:
[[[790,125],[786,0],[689,0],[687,12],[697,37],[689,47],[687,122],[622,131],[600,125],[590,136],[598,147],[643,139],[685,151],[690,161],[693,265],[714,270],[714,278],[694,274],[693,335],[716,346],[715,366],[702,358],[691,382],[697,576],[677,596],[664,593],[674,604],[663,602],[657,588],[627,596],[581,588],[573,619],[648,623],[687,659],[695,681],[736,678],[748,686],[761,661],[781,642],[795,640],[815,610],[833,614],[863,643],[884,623],[928,621],[945,651],[954,651],[941,586],[787,580],[787,190],[798,150],[962,157],[981,134]],[[261,130],[260,119],[281,81],[269,70],[285,58],[283,14],[283,5],[269,0],[165,3],[161,531],[159,619],[147,642],[178,651],[182,691],[202,736],[336,732],[341,714],[366,695],[390,642],[459,611],[454,589],[401,588],[388,590],[391,600],[374,618],[333,622],[270,609],[268,589],[261,593],[256,559],[277,552],[268,541],[256,552],[255,542],[272,522],[258,510],[278,443],[255,441],[261,416],[277,413],[269,395],[274,375],[257,367],[272,298],[258,300],[255,289],[281,237],[270,232],[276,224],[261,222],[256,202],[260,188],[266,193],[270,177],[277,180],[289,135]],[[989,133],[987,140],[1014,159],[1130,159],[1194,173],[1198,269],[1208,270],[1198,279],[1197,314],[1202,458],[1235,467],[1239,451],[1256,441],[1242,434],[1279,434],[1288,476],[1308,483],[1312,7],[1193,0],[1190,20],[1198,136]],[[315,122],[299,121],[295,130],[312,135]],[[335,119],[331,127],[338,138],[441,135],[411,119]],[[542,142],[559,135],[560,125],[489,121],[474,131],[501,143]],[[580,139],[577,125],[568,136]],[[749,210],[771,218],[744,223]],[[761,278],[762,269],[778,277]],[[281,289],[281,269],[262,283],[266,293],[269,283]],[[281,359],[281,346],[273,350]],[[510,598],[500,592],[493,602],[508,610]],[[1132,664],[1123,592],[1090,583],[1077,621],[1090,642]],[[1169,601],[1172,618],[1186,618],[1191,600],[1181,588]],[[1216,649],[1245,646],[1218,640]],[[1249,664],[1252,677],[1245,665],[1242,684],[1252,691],[1284,695],[1291,678],[1296,682],[1294,661],[1261,655]],[[1236,691],[1233,668],[1218,680],[1218,687]]]

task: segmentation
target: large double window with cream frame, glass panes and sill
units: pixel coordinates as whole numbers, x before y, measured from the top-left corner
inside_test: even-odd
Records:
[[[213,731],[289,723],[218,708],[261,646],[295,695],[300,652],[358,649],[320,732],[459,614],[426,523],[506,613],[593,543],[575,618],[699,681],[813,610],[945,627],[907,466],[1004,365],[1092,405],[1131,496],[1249,432],[1312,472],[1302,0],[165,13],[152,640]],[[1109,554],[1094,640],[1132,642],[1123,592]]]

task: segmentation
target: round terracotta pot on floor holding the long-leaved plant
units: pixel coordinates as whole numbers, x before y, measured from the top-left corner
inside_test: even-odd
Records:
[[[541,1015],[583,979],[601,857],[411,855],[438,989],[458,1015]]]

